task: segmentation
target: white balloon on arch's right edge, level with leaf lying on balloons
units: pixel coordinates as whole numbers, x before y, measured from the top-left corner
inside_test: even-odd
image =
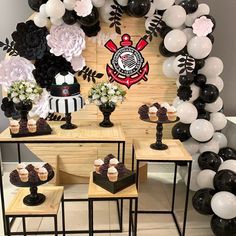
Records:
[[[223,72],[224,64],[219,57],[209,57],[205,60],[204,67],[199,70],[200,74],[207,77],[215,77]]]

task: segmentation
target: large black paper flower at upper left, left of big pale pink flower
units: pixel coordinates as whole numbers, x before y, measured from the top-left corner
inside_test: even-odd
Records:
[[[15,49],[21,57],[28,60],[41,59],[48,49],[46,27],[37,27],[32,20],[18,23],[16,31],[12,33]]]

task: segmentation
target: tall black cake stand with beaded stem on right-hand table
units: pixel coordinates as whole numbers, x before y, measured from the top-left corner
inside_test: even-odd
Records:
[[[156,127],[156,142],[151,144],[150,147],[154,150],[166,150],[168,149],[168,146],[164,143],[162,143],[162,137],[163,137],[163,124],[172,124],[179,121],[179,118],[177,117],[174,121],[166,120],[166,121],[152,121],[150,119],[141,119],[142,121],[149,122],[149,123],[155,123],[157,125]]]

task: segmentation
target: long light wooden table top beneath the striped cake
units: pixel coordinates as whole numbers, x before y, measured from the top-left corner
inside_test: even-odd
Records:
[[[100,127],[97,122],[81,122],[78,128],[63,130],[60,126],[65,122],[48,122],[53,132],[51,135],[12,138],[7,128],[0,134],[1,142],[60,142],[60,141],[125,141],[125,135],[120,124],[111,128]]]

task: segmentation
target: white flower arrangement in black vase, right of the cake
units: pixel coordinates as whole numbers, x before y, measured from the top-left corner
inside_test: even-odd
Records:
[[[89,91],[89,102],[94,103],[103,113],[104,119],[99,124],[102,127],[112,127],[110,115],[115,110],[118,102],[123,102],[126,95],[119,85],[102,82],[95,84]]]

